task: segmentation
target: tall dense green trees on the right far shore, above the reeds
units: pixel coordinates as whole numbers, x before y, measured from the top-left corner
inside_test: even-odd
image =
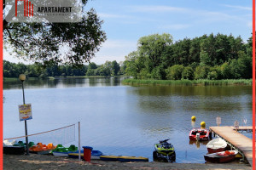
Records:
[[[252,38],[223,34],[184,38],[172,43],[170,34],[138,40],[137,51],[125,57],[125,74],[136,79],[252,78]]]

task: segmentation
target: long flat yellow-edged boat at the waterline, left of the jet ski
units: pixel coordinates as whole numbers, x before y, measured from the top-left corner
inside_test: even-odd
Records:
[[[148,161],[147,157],[142,156],[100,156],[102,161]]]

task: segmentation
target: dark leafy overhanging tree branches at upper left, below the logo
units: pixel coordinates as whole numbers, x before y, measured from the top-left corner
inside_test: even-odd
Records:
[[[82,0],[84,6],[87,1]],[[6,8],[5,2],[3,8]],[[15,7],[10,9],[13,10]],[[13,17],[9,14],[8,17]],[[83,65],[107,39],[102,23],[94,9],[84,13],[78,23],[8,23],[3,20],[3,41],[6,48],[12,48],[12,53],[20,58],[44,66]]]

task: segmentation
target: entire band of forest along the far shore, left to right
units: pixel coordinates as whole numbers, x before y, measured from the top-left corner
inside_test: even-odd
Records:
[[[80,77],[119,76],[154,80],[220,80],[252,78],[253,37],[243,42],[241,37],[223,34],[184,38],[173,42],[171,34],[141,37],[137,51],[125,56],[125,61],[90,63],[75,68],[71,65],[24,65],[3,60],[3,77]]]

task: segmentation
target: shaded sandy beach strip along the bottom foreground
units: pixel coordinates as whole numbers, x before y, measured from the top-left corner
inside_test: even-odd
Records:
[[[78,159],[30,154],[26,155],[3,155],[3,169],[14,170],[52,170],[52,169],[239,169],[251,170],[248,164],[243,163],[168,163],[168,162],[119,162],[119,161],[95,161],[90,163],[78,161]]]

